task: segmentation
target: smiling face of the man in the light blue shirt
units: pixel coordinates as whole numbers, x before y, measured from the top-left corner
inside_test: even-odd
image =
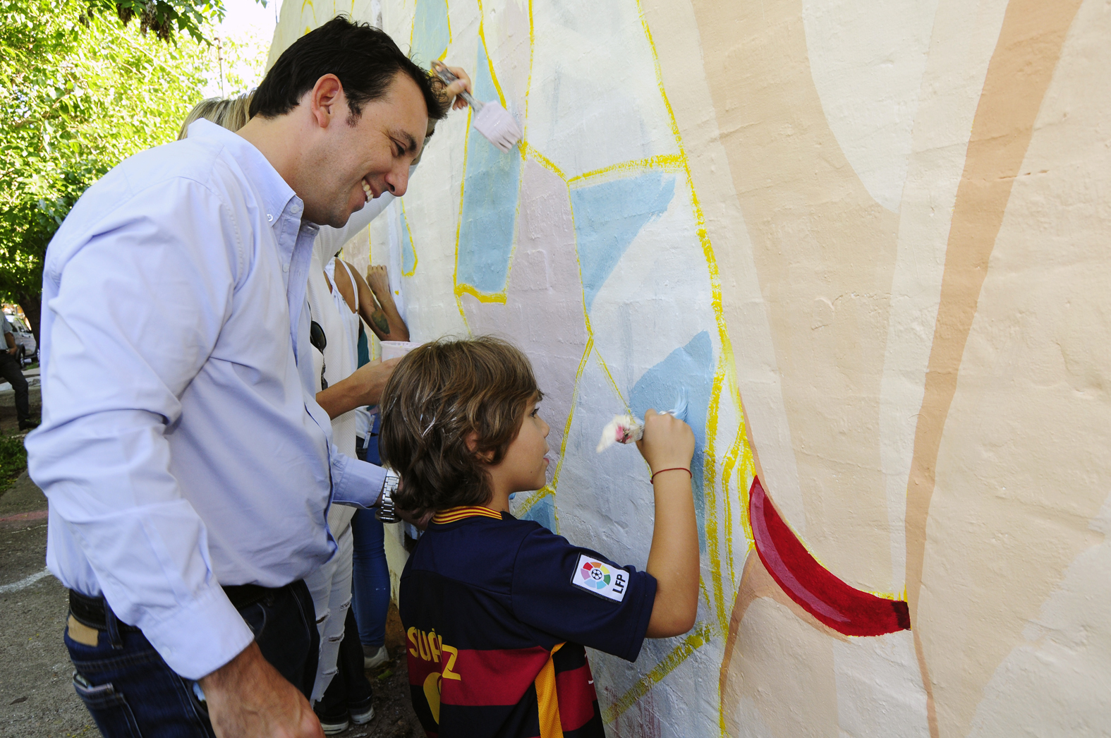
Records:
[[[428,109],[420,88],[398,73],[387,93],[362,106],[348,119],[347,99],[332,104],[332,119],[306,161],[304,217],[340,228],[356,210],[383,192],[401,197],[409,186],[409,166],[424,144]]]

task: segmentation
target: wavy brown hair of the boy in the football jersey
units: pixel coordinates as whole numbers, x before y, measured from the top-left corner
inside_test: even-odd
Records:
[[[526,406],[541,397],[528,357],[507,341],[439,340],[410,351],[379,406],[378,450],[401,477],[397,506],[422,513],[489,502],[486,467],[506,458]]]

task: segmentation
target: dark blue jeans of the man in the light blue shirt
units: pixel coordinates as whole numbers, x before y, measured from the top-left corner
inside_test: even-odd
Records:
[[[272,590],[240,615],[262,656],[308,698],[320,637],[304,582]],[[104,738],[216,738],[194,682],[171,670],[141,632],[110,627],[97,646],[86,646],[67,629],[66,648],[77,669],[73,688]]]

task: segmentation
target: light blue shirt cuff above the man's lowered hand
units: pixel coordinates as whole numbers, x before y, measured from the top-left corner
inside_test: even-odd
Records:
[[[141,630],[167,665],[186,679],[212,674],[254,640],[254,634],[217,584],[188,607],[166,620],[143,624]]]

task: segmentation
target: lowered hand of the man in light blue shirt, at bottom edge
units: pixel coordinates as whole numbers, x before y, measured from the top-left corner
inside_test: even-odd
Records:
[[[309,700],[262,658],[258,644],[199,684],[220,738],[324,738]]]

